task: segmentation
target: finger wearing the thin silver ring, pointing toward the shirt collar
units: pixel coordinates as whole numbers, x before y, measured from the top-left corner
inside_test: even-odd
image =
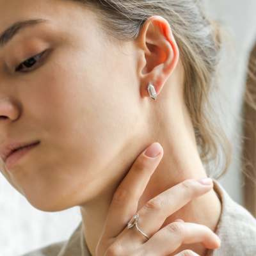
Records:
[[[200,180],[184,180],[148,201],[138,212],[138,228],[148,237],[153,236],[168,216],[212,189],[212,179],[207,178],[207,181],[208,183],[203,185]]]

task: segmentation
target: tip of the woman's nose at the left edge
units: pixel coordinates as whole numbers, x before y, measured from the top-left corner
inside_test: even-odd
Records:
[[[9,97],[0,98],[0,124],[3,120],[13,122],[20,116],[19,107]]]

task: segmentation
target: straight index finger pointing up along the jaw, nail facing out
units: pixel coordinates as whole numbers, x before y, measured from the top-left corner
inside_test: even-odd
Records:
[[[163,148],[153,143],[132,164],[113,196],[104,228],[105,239],[118,236],[136,214],[138,200],[162,157]]]

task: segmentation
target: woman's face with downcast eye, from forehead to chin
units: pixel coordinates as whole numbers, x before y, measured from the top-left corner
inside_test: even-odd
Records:
[[[108,42],[78,3],[0,0],[0,34],[31,19],[47,21],[0,47],[0,147],[40,143],[1,172],[34,207],[61,211],[119,179],[147,124],[132,44]]]

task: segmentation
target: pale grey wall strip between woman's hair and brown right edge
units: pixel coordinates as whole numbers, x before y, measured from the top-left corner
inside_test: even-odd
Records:
[[[243,205],[243,177],[241,172],[241,116],[248,59],[256,41],[255,0],[203,0],[208,17],[220,20],[228,35],[221,54],[221,106],[218,113],[234,157],[227,174],[220,182],[236,202]]]

